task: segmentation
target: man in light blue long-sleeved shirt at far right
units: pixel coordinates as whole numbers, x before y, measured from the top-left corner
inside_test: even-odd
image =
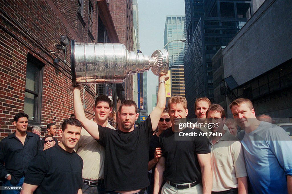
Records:
[[[292,141],[287,133],[257,120],[249,99],[236,99],[229,108],[234,120],[245,130],[241,143],[253,192],[291,193]]]

